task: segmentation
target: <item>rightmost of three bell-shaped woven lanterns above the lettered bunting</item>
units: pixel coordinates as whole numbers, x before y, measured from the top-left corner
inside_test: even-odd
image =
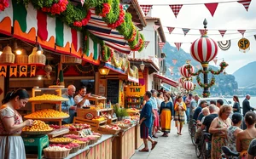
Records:
[[[32,50],[32,54],[28,56],[28,64],[34,65],[45,65],[46,57],[44,54],[37,53],[38,48],[34,47]]]

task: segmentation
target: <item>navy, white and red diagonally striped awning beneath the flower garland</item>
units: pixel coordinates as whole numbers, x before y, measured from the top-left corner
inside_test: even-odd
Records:
[[[102,39],[108,47],[113,48],[121,53],[130,54],[131,48],[127,45],[124,36],[119,34],[119,31],[111,29],[102,20],[102,16],[95,14],[95,9],[90,9],[91,18],[87,26],[85,26],[90,33]]]

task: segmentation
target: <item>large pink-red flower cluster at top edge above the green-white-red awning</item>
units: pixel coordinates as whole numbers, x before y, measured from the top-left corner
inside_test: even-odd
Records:
[[[61,14],[67,9],[67,4],[67,0],[59,0],[58,3],[52,4],[51,7],[43,7],[41,10],[50,13],[51,15]]]

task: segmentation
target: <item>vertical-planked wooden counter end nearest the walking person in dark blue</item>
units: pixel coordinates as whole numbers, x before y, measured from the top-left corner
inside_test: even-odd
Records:
[[[112,159],[129,159],[135,153],[135,128],[132,126],[113,137]]]

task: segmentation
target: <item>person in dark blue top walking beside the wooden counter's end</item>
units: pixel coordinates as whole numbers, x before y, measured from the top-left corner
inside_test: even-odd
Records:
[[[148,140],[152,143],[151,150],[153,150],[154,146],[157,144],[157,141],[154,141],[149,137],[149,128],[152,126],[152,105],[149,101],[151,98],[151,92],[147,91],[143,98],[146,100],[146,104],[143,106],[141,111],[139,123],[141,125],[141,139],[143,139],[145,147],[139,151],[148,152]]]

